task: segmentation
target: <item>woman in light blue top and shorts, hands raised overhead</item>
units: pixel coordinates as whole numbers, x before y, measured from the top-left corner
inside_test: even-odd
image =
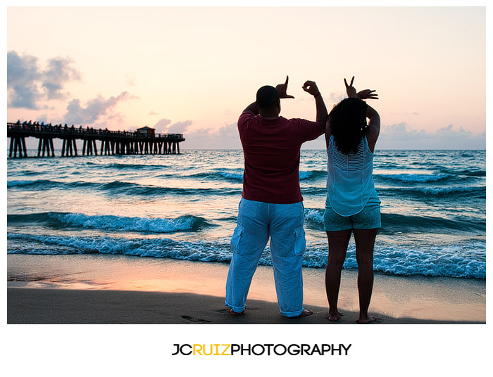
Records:
[[[327,200],[324,227],[329,243],[325,288],[330,321],[337,321],[337,298],[341,270],[351,233],[358,263],[358,324],[375,321],[368,315],[373,290],[373,247],[380,222],[380,200],[373,184],[373,151],[380,132],[380,116],[362,99],[375,98],[374,91],[356,94],[346,84],[349,98],[330,112],[325,129],[327,144]],[[370,121],[366,122],[366,118]]]

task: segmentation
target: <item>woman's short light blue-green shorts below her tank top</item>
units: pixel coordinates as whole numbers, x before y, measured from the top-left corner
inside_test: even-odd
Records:
[[[361,212],[352,216],[341,216],[332,210],[329,200],[325,201],[323,215],[325,231],[345,231],[347,229],[376,229],[382,226],[380,218],[380,199],[375,192]]]

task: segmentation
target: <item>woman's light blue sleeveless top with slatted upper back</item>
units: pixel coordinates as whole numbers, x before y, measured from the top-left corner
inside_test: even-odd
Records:
[[[358,152],[345,155],[335,146],[330,136],[327,147],[327,201],[341,216],[352,216],[363,210],[368,198],[375,192],[373,184],[373,153],[366,136]]]

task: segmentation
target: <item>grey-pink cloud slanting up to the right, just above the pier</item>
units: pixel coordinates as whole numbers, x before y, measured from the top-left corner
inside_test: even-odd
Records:
[[[73,99],[68,103],[67,113],[63,115],[63,122],[67,124],[94,124],[100,117],[110,113],[118,103],[132,98],[134,97],[130,96],[127,91],[123,91],[116,97],[111,96],[108,99],[97,96],[87,101],[85,108],[80,106],[80,100]],[[113,115],[110,114],[110,116]]]

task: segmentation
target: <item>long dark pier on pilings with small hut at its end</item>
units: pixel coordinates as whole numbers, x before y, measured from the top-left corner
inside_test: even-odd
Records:
[[[180,142],[185,141],[183,134],[155,134],[150,127],[129,132],[20,121],[7,123],[7,137],[11,138],[8,157],[14,158],[27,157],[26,137],[39,139],[38,157],[55,156],[53,139],[62,140],[61,157],[78,155],[77,140],[82,140],[82,155],[98,155],[96,141],[101,142],[100,155],[180,154]]]

